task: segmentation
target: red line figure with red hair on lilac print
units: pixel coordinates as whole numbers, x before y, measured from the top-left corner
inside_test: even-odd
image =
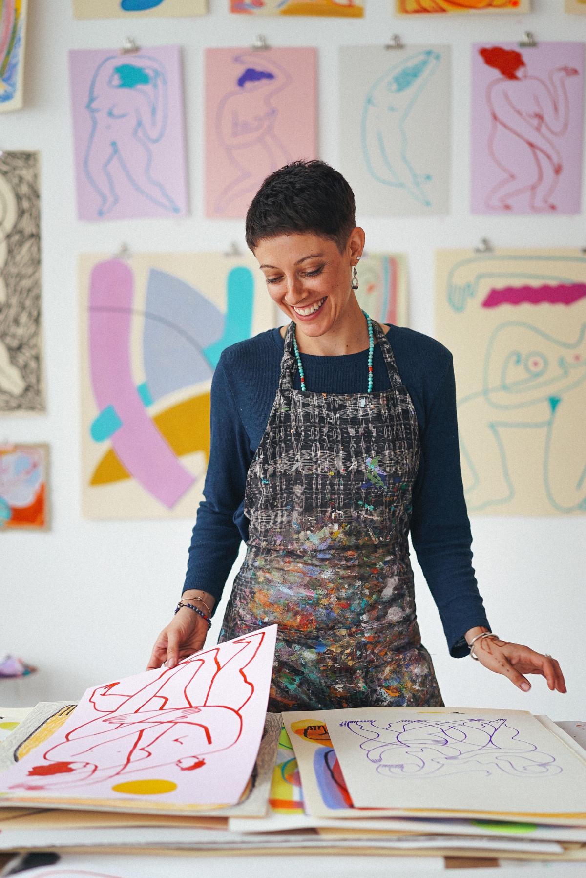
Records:
[[[550,69],[547,79],[531,76],[523,55],[499,46],[479,54],[501,74],[486,90],[490,108],[489,153],[504,177],[485,199],[489,210],[510,211],[529,195],[533,212],[557,210],[552,200],[564,164],[556,140],[568,133],[570,104],[566,80],[573,67]]]

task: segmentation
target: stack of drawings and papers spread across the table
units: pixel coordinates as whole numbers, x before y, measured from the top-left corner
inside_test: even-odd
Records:
[[[547,717],[372,708],[282,728],[274,648],[275,626],[39,704],[0,744],[0,851],[586,860],[586,752]]]

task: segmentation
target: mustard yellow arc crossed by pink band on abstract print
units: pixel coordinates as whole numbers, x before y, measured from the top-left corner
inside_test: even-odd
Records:
[[[210,392],[166,408],[154,416],[153,423],[177,457],[203,451],[206,461],[210,459]],[[89,484],[110,485],[130,478],[116,452],[110,449],[97,464]]]

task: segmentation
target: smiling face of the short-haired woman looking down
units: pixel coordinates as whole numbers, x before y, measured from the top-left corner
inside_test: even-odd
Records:
[[[352,266],[362,254],[364,232],[354,228],[340,253],[318,234],[282,234],[259,241],[254,255],[268,293],[305,335],[324,335],[343,318],[354,300]]]

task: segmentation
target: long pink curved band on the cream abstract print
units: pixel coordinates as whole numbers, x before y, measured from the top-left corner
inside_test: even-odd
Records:
[[[134,278],[118,259],[98,263],[89,282],[89,372],[98,409],[114,407],[110,439],[120,463],[169,509],[194,483],[165,442],[132,378],[129,346]]]

